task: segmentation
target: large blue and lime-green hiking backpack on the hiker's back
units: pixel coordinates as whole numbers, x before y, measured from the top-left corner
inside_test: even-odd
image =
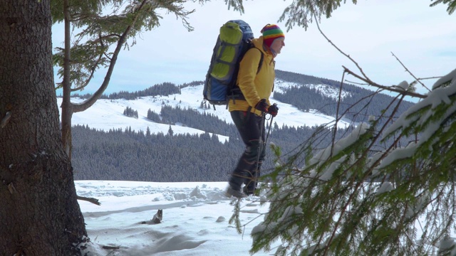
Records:
[[[254,48],[253,38],[252,28],[242,20],[228,21],[220,28],[204,80],[204,101],[212,105],[227,105],[229,100],[244,100],[244,95],[237,86],[237,73],[244,54]],[[257,73],[264,58],[263,52],[259,51],[261,59]]]

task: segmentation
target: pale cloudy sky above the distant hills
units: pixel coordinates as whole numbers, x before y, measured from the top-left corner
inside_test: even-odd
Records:
[[[347,1],[348,2],[348,1]],[[343,4],[331,18],[322,18],[323,33],[355,59],[366,75],[381,85],[397,85],[413,78],[405,72],[394,53],[418,78],[445,75],[456,68],[456,14],[447,14],[446,5],[430,7],[430,0],[369,0]],[[219,27],[230,19],[247,21],[256,37],[267,23],[283,28],[285,47],[276,57],[276,69],[341,80],[342,65],[358,70],[321,35],[316,23],[309,28],[286,31],[279,16],[291,0],[244,1],[245,13],[228,10],[224,1],[196,9],[189,16],[194,31],[182,21],[165,14],[161,26],[143,33],[138,43],[123,50],[115,66],[106,94],[120,90],[136,91],[161,82],[181,84],[204,80]],[[62,24],[53,27],[53,46],[63,46]],[[96,73],[83,92],[94,92],[105,73]],[[346,78],[358,82],[353,77]],[[56,78],[56,82],[60,81]],[[427,80],[432,87],[435,80]],[[420,90],[420,92],[425,92]]]

